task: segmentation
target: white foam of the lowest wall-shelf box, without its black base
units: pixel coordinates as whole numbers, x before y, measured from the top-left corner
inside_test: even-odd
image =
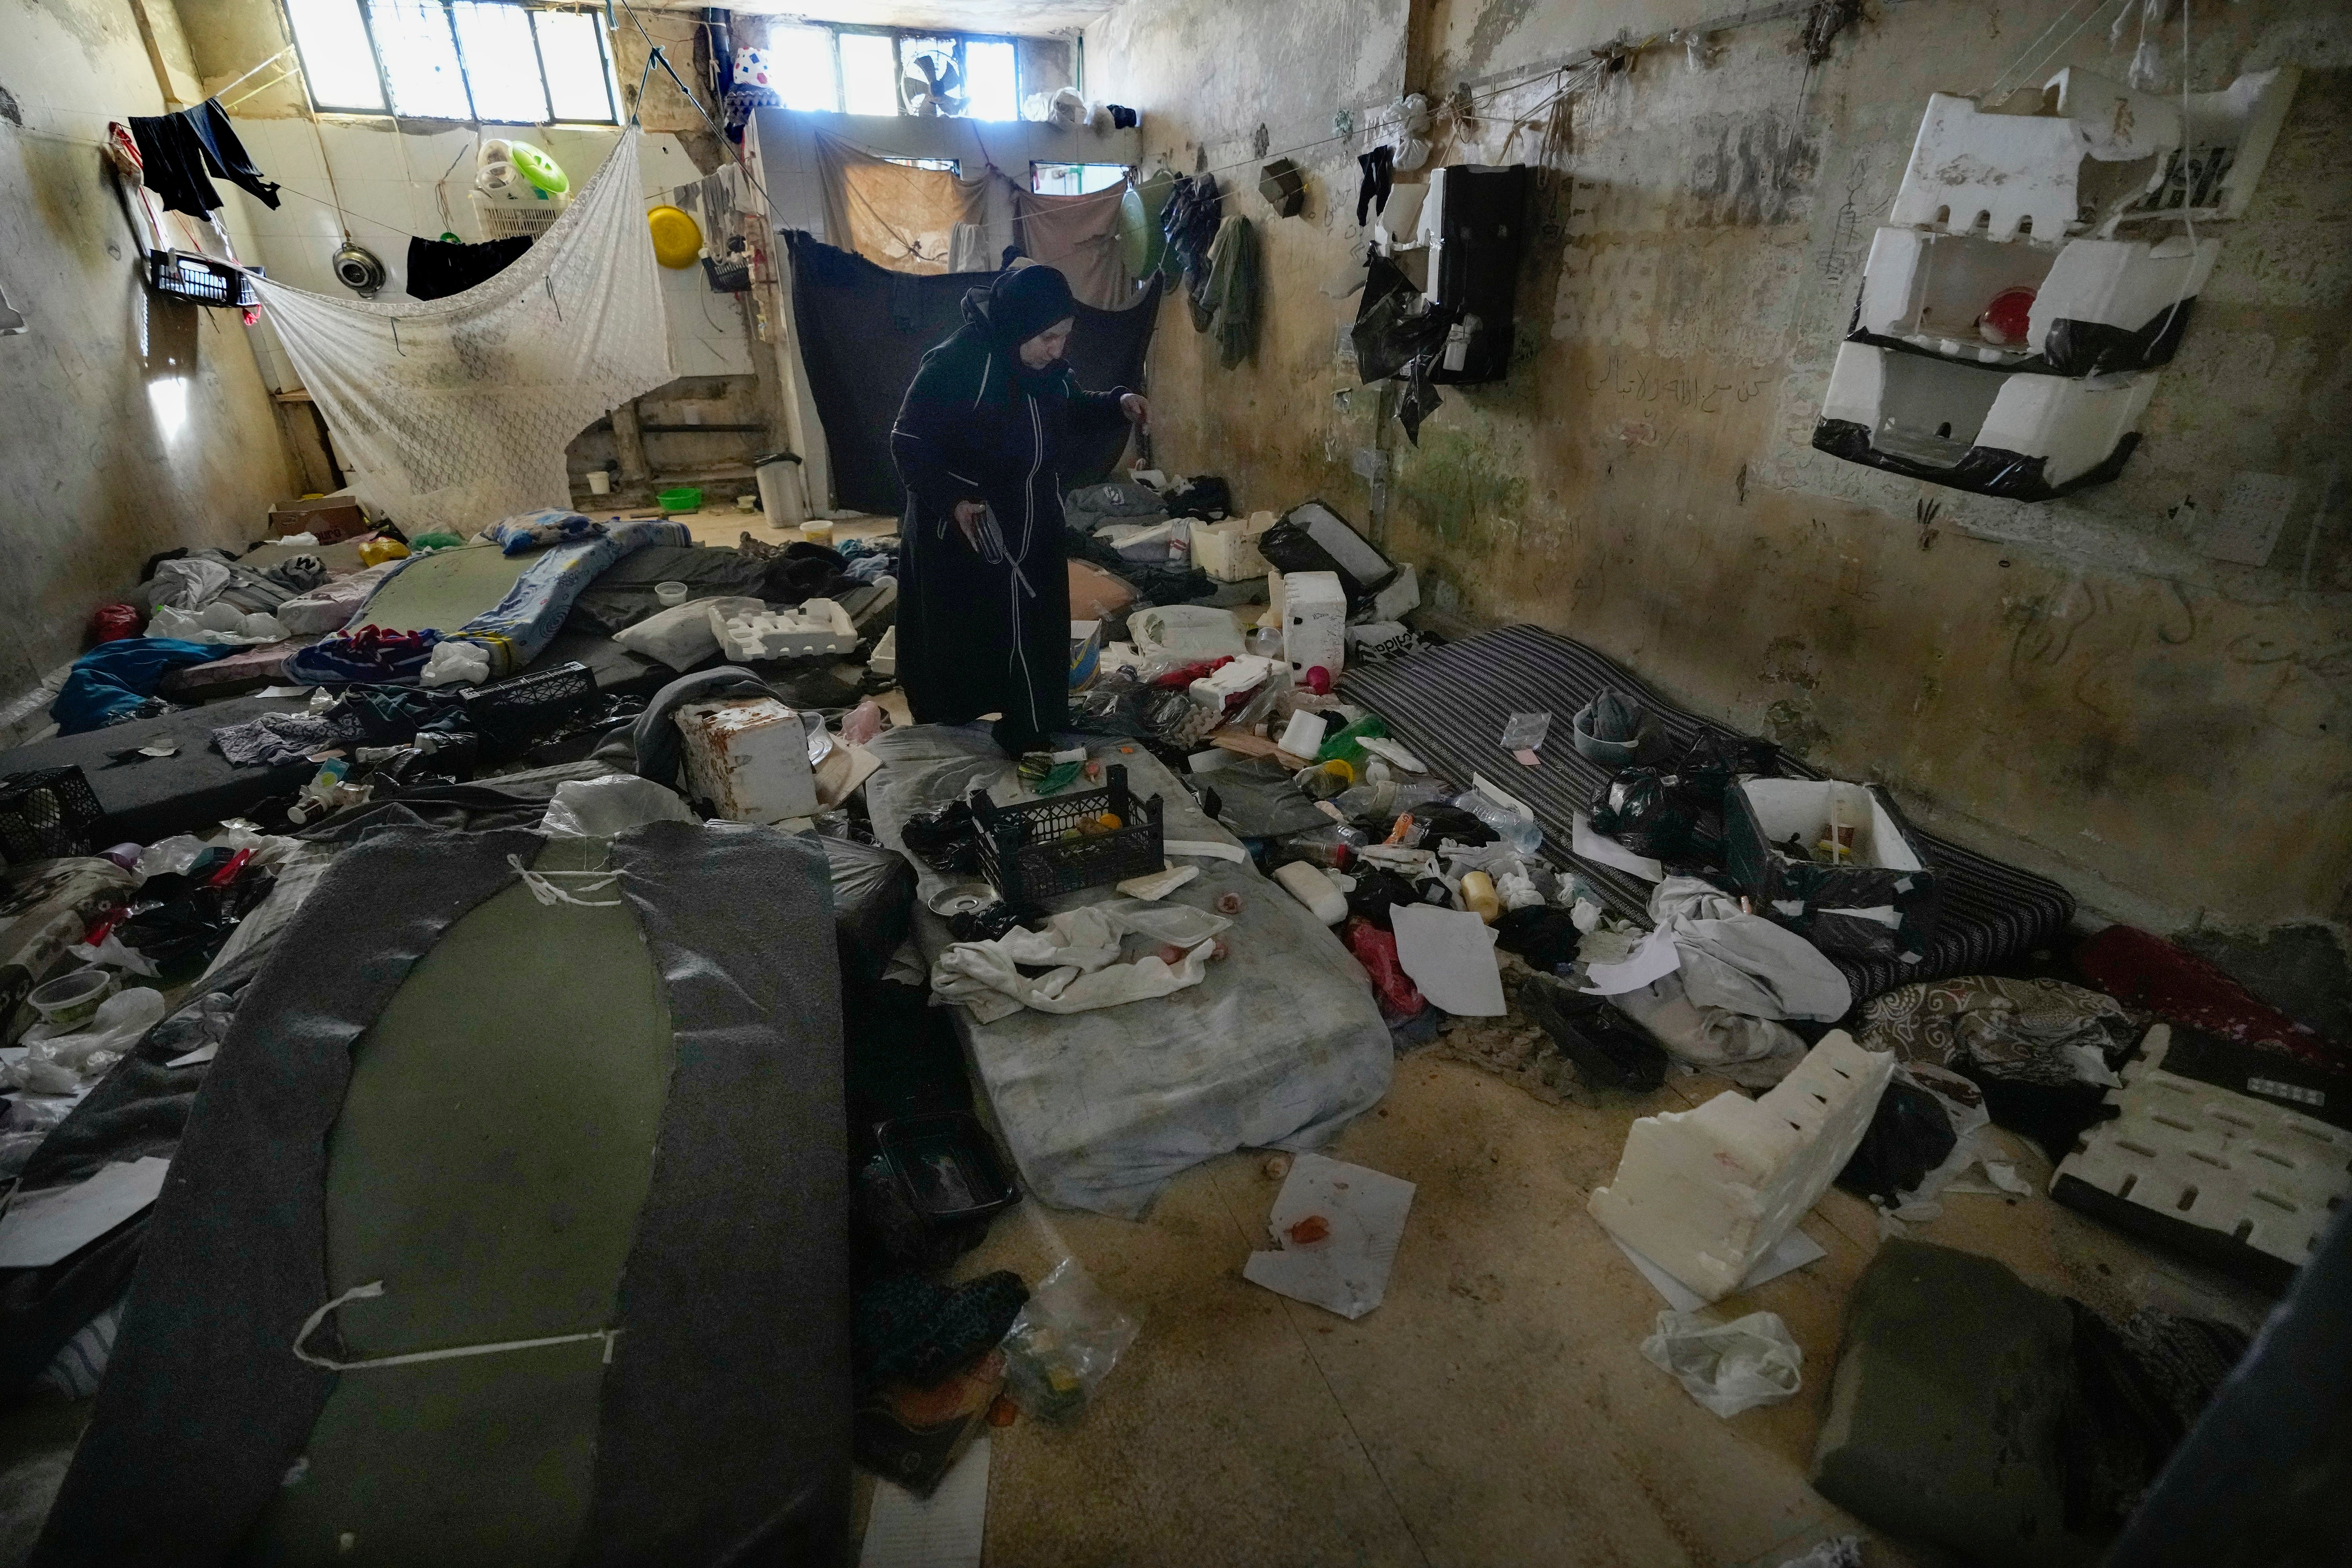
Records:
[[[1820,416],[1867,425],[1875,449],[1912,463],[1950,468],[1971,447],[1994,447],[2044,458],[2044,482],[2065,484],[2114,451],[2154,390],[2152,374],[2093,386],[1839,343]]]

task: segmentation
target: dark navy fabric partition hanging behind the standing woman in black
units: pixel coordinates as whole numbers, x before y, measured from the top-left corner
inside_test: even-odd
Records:
[[[924,350],[964,324],[964,294],[985,289],[995,273],[891,273],[866,256],[835,249],[804,233],[786,233],[793,249],[793,315],[800,357],[809,371],[816,414],[833,454],[833,498],[861,512],[896,517],[906,505],[889,461],[889,425]],[[1127,310],[1077,308],[1070,364],[1091,393],[1143,386],[1143,353],[1160,320],[1160,277]],[[1112,430],[1101,449],[1063,475],[1094,484],[1127,447]]]

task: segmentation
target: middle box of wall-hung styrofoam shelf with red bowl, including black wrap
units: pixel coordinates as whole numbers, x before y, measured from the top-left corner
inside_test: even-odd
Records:
[[[2204,289],[2220,240],[1985,240],[1924,228],[1879,228],[1863,266],[1858,334],[1919,353],[2089,376],[2166,364],[2187,306]],[[1987,313],[2013,289],[2032,292],[2025,334],[1994,341]]]

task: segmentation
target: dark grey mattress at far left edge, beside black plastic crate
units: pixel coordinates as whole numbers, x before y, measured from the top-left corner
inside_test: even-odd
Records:
[[[270,795],[299,790],[318,771],[318,764],[230,766],[228,757],[212,745],[212,731],[259,719],[266,712],[299,712],[301,708],[303,698],[299,696],[238,696],[78,736],[33,741],[0,752],[0,778],[78,764],[106,811],[92,849],[125,839],[153,844],[174,832],[212,827],[223,816],[242,816]],[[141,745],[176,745],[179,750],[172,757],[141,757],[108,766],[118,752]]]

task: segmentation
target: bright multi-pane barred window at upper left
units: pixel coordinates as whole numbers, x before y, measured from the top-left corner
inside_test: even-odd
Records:
[[[595,12],[513,0],[285,0],[310,106],[358,115],[616,125]]]

